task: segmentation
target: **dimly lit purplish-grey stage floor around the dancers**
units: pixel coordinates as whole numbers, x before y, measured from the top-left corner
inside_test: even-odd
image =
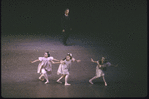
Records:
[[[108,39],[108,38],[107,38]],[[141,69],[137,63],[138,53],[134,47],[123,41],[114,42],[104,38],[92,38],[71,35],[69,46],[61,43],[57,35],[7,35],[1,37],[1,96],[4,98],[51,98],[51,97],[146,97],[147,65]],[[130,43],[129,43],[130,44]],[[133,44],[133,43],[132,43]],[[121,45],[121,47],[119,47]],[[127,47],[126,47],[127,46]],[[63,59],[67,53],[80,59],[71,67],[68,82],[70,86],[56,83],[59,64],[53,64],[50,83],[39,81],[37,74],[38,59],[49,51],[56,59]],[[144,57],[144,54],[141,54]],[[102,78],[88,80],[95,75],[96,64],[91,58],[98,60],[106,57],[117,68],[109,67],[105,72],[108,86],[104,86]],[[144,61],[144,63],[146,60]],[[142,66],[142,65],[141,65]]]

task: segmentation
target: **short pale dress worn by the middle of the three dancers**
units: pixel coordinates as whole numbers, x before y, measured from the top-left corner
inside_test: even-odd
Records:
[[[75,61],[74,58],[72,58],[71,60],[69,61],[66,61],[66,59],[64,60],[65,63],[63,64],[60,64],[59,67],[58,67],[58,70],[57,70],[57,75],[62,75],[62,74],[66,74],[66,75],[69,75],[69,71],[70,71],[70,68],[71,68],[71,63]]]

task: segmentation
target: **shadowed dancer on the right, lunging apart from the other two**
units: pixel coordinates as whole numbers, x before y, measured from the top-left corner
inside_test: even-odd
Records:
[[[104,72],[103,72],[103,70],[106,69],[106,67],[109,67],[109,66],[117,67],[118,65],[115,66],[115,65],[112,65],[110,62],[106,62],[104,57],[102,57],[102,59],[99,60],[99,61],[94,61],[91,58],[91,62],[97,63],[97,66],[96,66],[96,76],[94,76],[93,78],[91,78],[89,80],[89,82],[91,84],[93,84],[92,80],[97,79],[97,78],[99,78],[99,77],[102,76],[103,81],[105,83],[105,86],[107,86],[107,83],[106,83],[105,78],[104,78]]]

